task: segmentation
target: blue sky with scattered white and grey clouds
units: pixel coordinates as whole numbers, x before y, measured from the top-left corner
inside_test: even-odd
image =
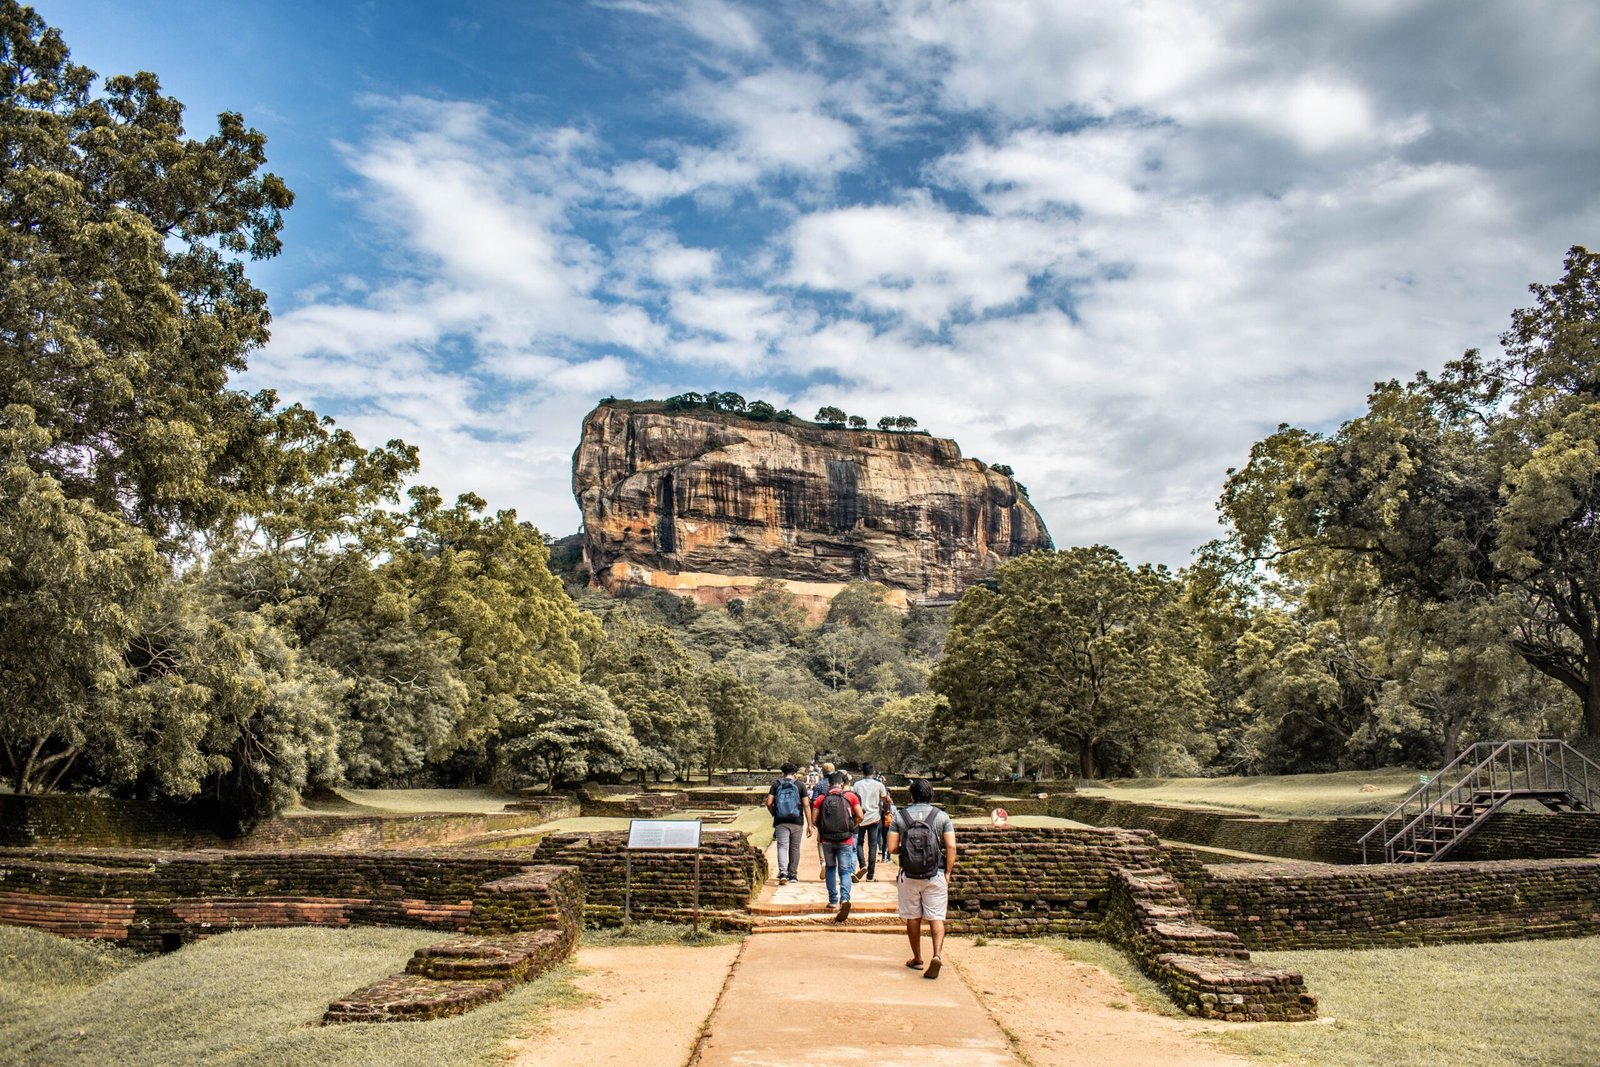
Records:
[[[40,0],[296,194],[238,386],[573,533],[595,402],[910,414],[1182,566],[1600,246],[1592,0]]]

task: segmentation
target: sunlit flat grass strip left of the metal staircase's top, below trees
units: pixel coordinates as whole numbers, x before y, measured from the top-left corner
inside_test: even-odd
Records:
[[[1362,792],[1362,785],[1376,785]],[[1085,797],[1189,808],[1226,808],[1275,816],[1381,816],[1418,787],[1418,771],[1389,766],[1331,774],[1256,777],[1130,777],[1085,782]]]

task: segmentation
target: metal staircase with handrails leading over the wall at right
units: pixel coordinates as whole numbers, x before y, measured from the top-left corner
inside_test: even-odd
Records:
[[[1362,862],[1442,859],[1512,800],[1600,809],[1600,766],[1565,741],[1480,741],[1362,835]]]

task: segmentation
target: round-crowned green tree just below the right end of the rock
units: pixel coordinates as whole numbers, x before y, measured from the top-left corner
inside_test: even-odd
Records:
[[[1075,750],[1094,777],[1182,742],[1206,707],[1197,633],[1162,568],[1104,545],[1034,552],[962,595],[931,685],[995,750]]]

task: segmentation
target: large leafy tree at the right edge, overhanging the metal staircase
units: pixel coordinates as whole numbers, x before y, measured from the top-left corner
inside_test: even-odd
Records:
[[[1600,256],[1573,248],[1531,291],[1504,358],[1382,382],[1326,438],[1282,427],[1221,509],[1242,560],[1360,557],[1413,613],[1510,606],[1506,640],[1600,736]]]

